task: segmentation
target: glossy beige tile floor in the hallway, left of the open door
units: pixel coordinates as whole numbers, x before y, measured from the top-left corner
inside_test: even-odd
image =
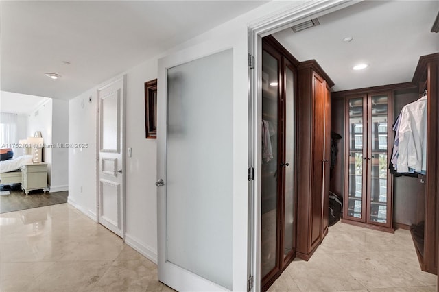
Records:
[[[0,291],[174,291],[156,265],[69,204],[0,215]]]

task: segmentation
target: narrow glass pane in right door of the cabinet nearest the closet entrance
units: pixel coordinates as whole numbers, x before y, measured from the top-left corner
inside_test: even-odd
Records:
[[[296,152],[296,114],[294,104],[294,73],[287,68],[286,70],[286,108],[285,108],[285,161],[289,166],[285,167],[285,225],[283,236],[283,256],[287,256],[294,248],[294,197],[295,176],[294,154]]]

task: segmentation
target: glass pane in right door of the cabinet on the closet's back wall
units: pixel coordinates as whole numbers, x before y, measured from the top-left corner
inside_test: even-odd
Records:
[[[372,97],[370,221],[387,223],[388,97]]]

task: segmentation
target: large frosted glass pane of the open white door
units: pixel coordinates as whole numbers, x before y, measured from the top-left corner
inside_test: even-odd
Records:
[[[168,69],[167,86],[167,260],[232,289],[233,51]]]

